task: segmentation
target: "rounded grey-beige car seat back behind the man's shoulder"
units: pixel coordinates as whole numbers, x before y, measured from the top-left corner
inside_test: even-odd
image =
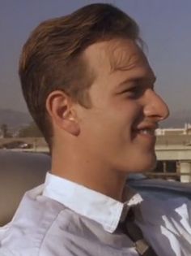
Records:
[[[0,226],[11,220],[23,194],[45,180],[47,154],[0,150]]]

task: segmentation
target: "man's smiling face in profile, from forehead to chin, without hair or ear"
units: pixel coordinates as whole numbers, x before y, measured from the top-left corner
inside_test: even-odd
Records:
[[[155,128],[168,107],[154,91],[155,75],[142,50],[128,39],[104,41],[85,50],[96,80],[91,108],[79,109],[87,159],[116,171],[155,167]]]

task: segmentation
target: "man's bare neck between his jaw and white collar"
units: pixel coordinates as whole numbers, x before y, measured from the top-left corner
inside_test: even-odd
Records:
[[[88,189],[103,193],[108,197],[123,202],[126,174],[111,170],[97,161],[81,161],[76,163],[74,159],[52,159],[52,173],[56,176],[82,184]]]

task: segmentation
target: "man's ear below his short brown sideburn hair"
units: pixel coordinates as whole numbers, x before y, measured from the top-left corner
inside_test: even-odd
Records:
[[[70,96],[61,90],[49,93],[46,99],[46,110],[53,124],[74,136],[79,135],[79,121]]]

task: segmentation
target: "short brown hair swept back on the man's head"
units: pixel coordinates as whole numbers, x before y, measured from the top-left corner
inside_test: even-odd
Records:
[[[52,128],[45,108],[49,93],[61,89],[86,106],[84,91],[91,86],[93,74],[83,50],[117,37],[138,41],[138,25],[117,7],[97,3],[41,23],[23,46],[19,63],[23,96],[49,146]]]

